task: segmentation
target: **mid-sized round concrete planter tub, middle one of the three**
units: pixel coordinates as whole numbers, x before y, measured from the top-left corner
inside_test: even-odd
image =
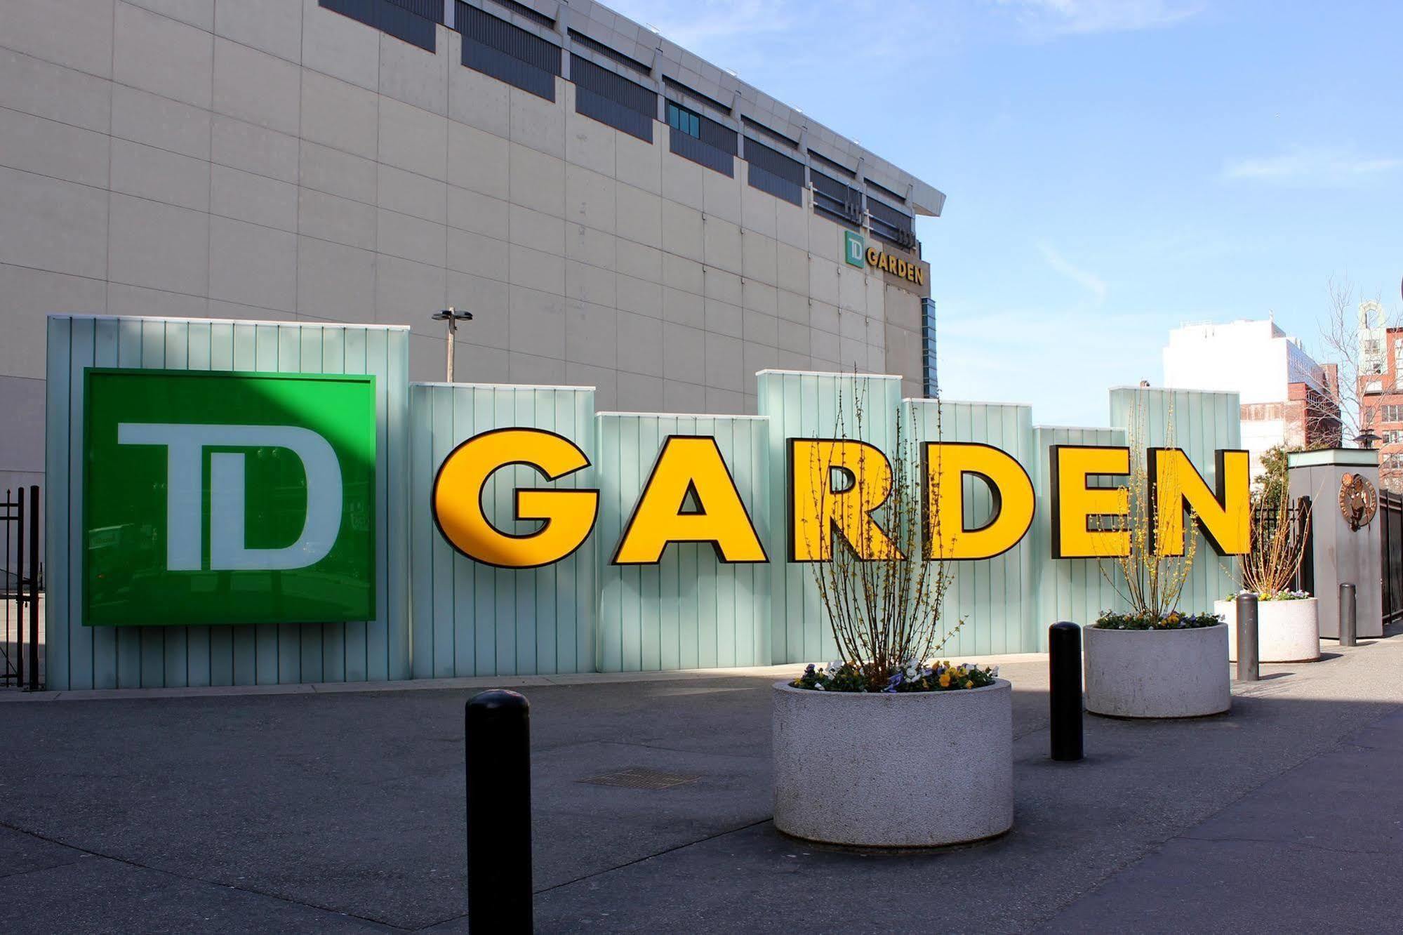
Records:
[[[1200,717],[1228,710],[1228,626],[1082,630],[1086,710],[1111,717]]]

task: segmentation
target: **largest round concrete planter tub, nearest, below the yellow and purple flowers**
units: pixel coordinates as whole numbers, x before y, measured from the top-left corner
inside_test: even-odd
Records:
[[[774,827],[860,847],[1013,827],[1013,691],[853,694],[774,685]]]

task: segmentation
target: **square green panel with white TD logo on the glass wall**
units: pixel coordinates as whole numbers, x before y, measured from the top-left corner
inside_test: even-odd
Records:
[[[375,376],[84,376],[84,625],[375,618]]]

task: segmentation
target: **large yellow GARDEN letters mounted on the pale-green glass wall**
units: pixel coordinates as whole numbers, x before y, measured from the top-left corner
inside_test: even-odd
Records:
[[[1219,449],[1216,489],[1180,448],[1146,449],[1146,500],[1157,522],[1148,548],[1184,553],[1184,514],[1191,512],[1221,556],[1249,549],[1249,453]],[[1009,452],[979,442],[923,442],[920,472],[922,557],[974,562],[1003,555],[1033,528],[1035,493],[1027,469]],[[1054,559],[1110,559],[1131,550],[1129,494],[1124,484],[1096,479],[1131,473],[1127,445],[1052,445],[1048,451]],[[571,556],[595,529],[599,491],[516,489],[513,519],[535,532],[497,528],[483,505],[483,489],[508,465],[525,465],[544,482],[591,466],[570,438],[542,428],[494,428],[457,445],[434,483],[434,518],[462,555],[501,569],[537,569]],[[852,438],[786,438],[784,494],[787,560],[829,562],[833,549],[861,560],[902,560],[882,528],[881,511],[894,483],[888,455]],[[992,503],[986,519],[965,521],[965,482],[984,484]],[[769,553],[711,435],[668,435],[652,462],[610,562],[657,564],[669,546],[703,543],[717,562],[763,563]]]

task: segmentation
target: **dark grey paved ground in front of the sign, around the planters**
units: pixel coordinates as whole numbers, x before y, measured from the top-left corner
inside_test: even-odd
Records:
[[[1228,716],[1087,717],[1080,764],[1007,663],[1014,830],[902,855],[774,831],[773,674],[529,687],[539,931],[1396,928],[1403,637],[1330,656]],[[6,931],[466,931],[471,691],[0,706]],[[579,782],[630,767],[697,778]]]

